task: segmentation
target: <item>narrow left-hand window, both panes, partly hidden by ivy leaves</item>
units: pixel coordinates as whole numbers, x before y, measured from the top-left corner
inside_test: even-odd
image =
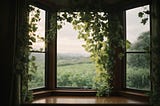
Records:
[[[29,81],[29,89],[36,89],[45,87],[45,41],[41,38],[45,38],[45,14],[46,12],[38,7],[34,7],[35,10],[40,12],[40,21],[37,22],[37,31],[35,34],[35,40],[32,44],[31,57],[35,58],[35,65],[37,70],[35,72],[30,69],[30,74],[32,75],[31,81]],[[33,17],[35,11],[30,12],[29,19]],[[31,67],[32,68],[32,67]]]

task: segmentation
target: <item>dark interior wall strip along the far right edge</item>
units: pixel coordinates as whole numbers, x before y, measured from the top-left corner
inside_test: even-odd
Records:
[[[160,1],[152,0],[151,4],[151,36],[152,36],[152,98],[155,106],[160,105]]]

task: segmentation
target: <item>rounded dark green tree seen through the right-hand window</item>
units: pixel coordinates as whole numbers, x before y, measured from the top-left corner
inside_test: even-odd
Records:
[[[143,51],[149,52],[150,51],[150,32],[142,33],[136,42],[134,42],[129,51]],[[127,63],[131,67],[139,67],[139,68],[150,68],[150,55],[149,54],[132,54],[128,55]]]

